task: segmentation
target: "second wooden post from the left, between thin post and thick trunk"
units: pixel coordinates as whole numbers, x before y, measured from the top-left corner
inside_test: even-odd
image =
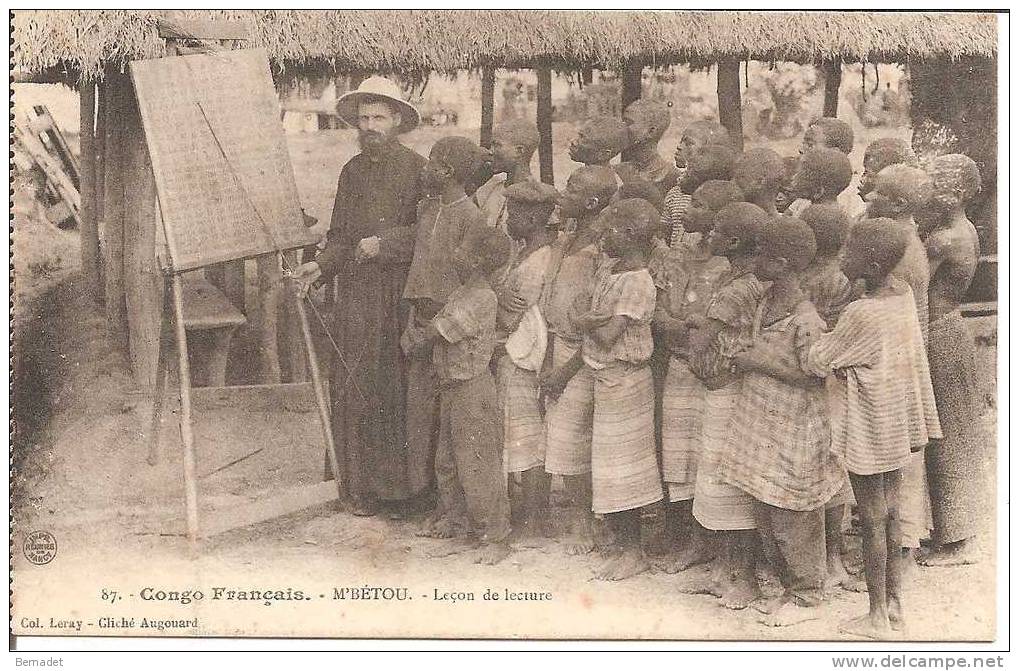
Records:
[[[124,297],[124,134],[125,101],[130,84],[125,74],[108,72],[104,83],[107,95],[106,140],[103,200],[105,243],[106,324],[110,342],[127,351],[127,304]]]

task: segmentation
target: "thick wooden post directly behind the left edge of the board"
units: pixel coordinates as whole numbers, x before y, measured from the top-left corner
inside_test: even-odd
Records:
[[[129,89],[132,92],[132,89]],[[156,382],[163,273],[156,262],[156,183],[133,95],[123,105],[124,296],[131,370],[139,384]]]

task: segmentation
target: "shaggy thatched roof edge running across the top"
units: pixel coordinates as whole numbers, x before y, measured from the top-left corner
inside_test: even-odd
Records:
[[[14,12],[13,66],[64,81],[162,54],[166,12]],[[816,62],[993,56],[994,14],[545,10],[187,10],[248,24],[278,71],[447,72],[484,65],[615,67],[723,57]]]

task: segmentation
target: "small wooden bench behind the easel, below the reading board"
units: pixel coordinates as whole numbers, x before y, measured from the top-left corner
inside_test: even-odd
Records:
[[[210,346],[205,367],[208,385],[224,386],[233,331],[248,319],[221,291],[198,273],[184,275],[183,312],[184,329],[189,333],[208,333]]]

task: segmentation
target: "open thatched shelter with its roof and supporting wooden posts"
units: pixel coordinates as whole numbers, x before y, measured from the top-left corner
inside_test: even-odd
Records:
[[[152,337],[151,318],[132,328],[129,299],[148,287],[155,269],[151,184],[139,177],[147,158],[140,133],[120,127],[133,117],[124,109],[130,85],[123,72],[133,59],[167,55],[160,27],[209,29],[244,46],[262,47],[276,81],[337,73],[482,70],[481,140],[490,138],[492,72],[498,67],[538,72],[541,175],[551,180],[550,69],[623,75],[623,102],[640,95],[644,67],[679,63],[717,65],[718,113],[742,140],[740,65],[747,60],[792,61],[825,75],[818,113],[837,111],[842,66],[898,62],[913,73],[914,127],[924,120],[953,128],[953,151],[981,163],[993,185],[998,25],[994,14],[920,12],[705,12],[549,10],[25,10],[15,11],[13,68],[18,78],[63,82],[82,95],[84,166],[82,254],[85,280],[99,299],[105,293],[111,332],[130,348]],[[218,23],[220,27],[224,23]],[[219,30],[219,29],[217,29]],[[235,31],[235,34],[232,32]],[[183,31],[182,34],[186,34]],[[164,34],[165,36],[165,31]],[[966,98],[964,91],[977,96]],[[979,117],[974,116],[974,112]],[[115,121],[114,121],[115,119]],[[130,126],[133,127],[133,126]],[[136,128],[137,130],[137,128]],[[139,145],[141,143],[141,145]],[[124,166],[130,171],[125,171]],[[133,166],[133,167],[130,167]],[[135,176],[130,176],[135,175]],[[125,184],[125,178],[141,179]],[[141,189],[141,195],[137,192]],[[993,190],[990,191],[993,194]],[[123,195],[131,194],[126,206]],[[145,201],[144,203],[142,201]],[[994,196],[977,218],[985,241],[995,237]],[[987,205],[990,203],[990,205]],[[145,225],[140,225],[142,221]],[[127,250],[125,255],[124,250]],[[101,253],[102,252],[102,253]],[[100,277],[105,277],[101,282]],[[125,294],[125,292],[127,294]],[[143,292],[144,293],[144,292]],[[133,340],[132,340],[133,339]],[[136,364],[140,380],[147,357]]]

